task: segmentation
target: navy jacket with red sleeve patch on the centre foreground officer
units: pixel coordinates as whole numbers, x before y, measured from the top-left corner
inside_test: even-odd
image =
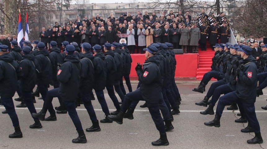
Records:
[[[143,64],[143,70],[136,71],[141,81],[141,96],[147,103],[159,103],[159,99],[162,97],[160,63],[160,57],[155,55],[146,60]]]

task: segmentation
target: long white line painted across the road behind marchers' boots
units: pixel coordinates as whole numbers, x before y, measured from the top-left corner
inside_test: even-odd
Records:
[[[5,109],[5,107],[0,107],[0,109]],[[28,108],[15,108],[15,109],[27,109]],[[35,108],[36,110],[41,110],[42,108]],[[76,109],[77,111],[86,111],[86,109]],[[102,109],[94,109],[95,111],[102,111]],[[116,111],[116,109],[109,109],[109,111]],[[134,111],[139,111],[139,112],[149,112],[148,109],[147,110],[134,110]],[[204,110],[180,110],[180,112],[201,112],[201,111],[204,111]],[[216,112],[216,111],[214,111]],[[233,112],[232,110],[224,110],[224,112]],[[267,110],[266,111],[255,111],[256,113],[267,113]],[[235,110],[234,113],[239,113],[238,110]]]

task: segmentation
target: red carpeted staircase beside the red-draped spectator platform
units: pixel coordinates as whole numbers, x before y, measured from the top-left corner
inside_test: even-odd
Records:
[[[207,51],[201,51],[200,45],[198,46],[198,54],[199,54],[199,67],[197,69],[197,80],[201,80],[203,75],[210,71],[212,64],[212,57],[214,57],[214,51],[212,51],[209,41],[207,40]],[[212,78],[211,80],[216,80]]]

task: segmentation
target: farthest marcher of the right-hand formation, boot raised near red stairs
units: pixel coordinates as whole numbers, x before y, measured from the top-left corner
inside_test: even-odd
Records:
[[[218,68],[220,68],[221,62],[223,61],[223,58],[225,59],[225,57],[223,57],[224,44],[220,44],[220,45],[217,45],[217,46],[215,45],[215,47],[218,47],[219,51],[220,51],[219,61],[216,62],[216,65],[218,65]],[[219,71],[211,70],[211,71],[205,73],[205,75],[203,76],[203,78],[202,78],[201,82],[199,83],[198,87],[194,88],[192,91],[200,92],[200,93],[205,92],[205,87],[206,87],[206,85],[208,84],[208,82],[210,81],[211,78],[215,78],[218,81],[223,79],[223,78],[220,77]]]

